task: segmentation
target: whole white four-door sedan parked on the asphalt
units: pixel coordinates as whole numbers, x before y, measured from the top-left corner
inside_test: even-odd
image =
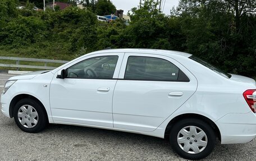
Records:
[[[2,112],[25,132],[61,123],[170,137],[186,159],[256,136],[256,84],[188,53],[111,49],[11,77]]]

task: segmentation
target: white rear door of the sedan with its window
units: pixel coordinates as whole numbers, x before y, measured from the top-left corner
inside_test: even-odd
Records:
[[[179,62],[125,53],[113,94],[115,128],[153,131],[194,94],[195,77]]]

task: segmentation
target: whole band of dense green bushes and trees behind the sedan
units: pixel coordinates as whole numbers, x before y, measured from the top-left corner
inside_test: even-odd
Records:
[[[256,76],[255,0],[181,0],[170,16],[148,0],[139,10],[132,8],[129,25],[97,21],[103,4],[83,2],[88,10],[43,12],[16,10],[15,0],[0,0],[0,54],[72,59],[108,47],[170,49],[227,72]]]

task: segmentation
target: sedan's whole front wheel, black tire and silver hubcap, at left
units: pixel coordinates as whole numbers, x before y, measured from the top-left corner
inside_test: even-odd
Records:
[[[25,132],[38,132],[47,124],[44,107],[31,98],[21,99],[14,107],[14,119],[17,126]]]

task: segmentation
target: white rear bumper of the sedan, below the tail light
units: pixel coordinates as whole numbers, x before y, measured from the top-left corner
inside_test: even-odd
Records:
[[[221,144],[250,142],[256,137],[256,114],[229,113],[216,121],[221,132]]]

